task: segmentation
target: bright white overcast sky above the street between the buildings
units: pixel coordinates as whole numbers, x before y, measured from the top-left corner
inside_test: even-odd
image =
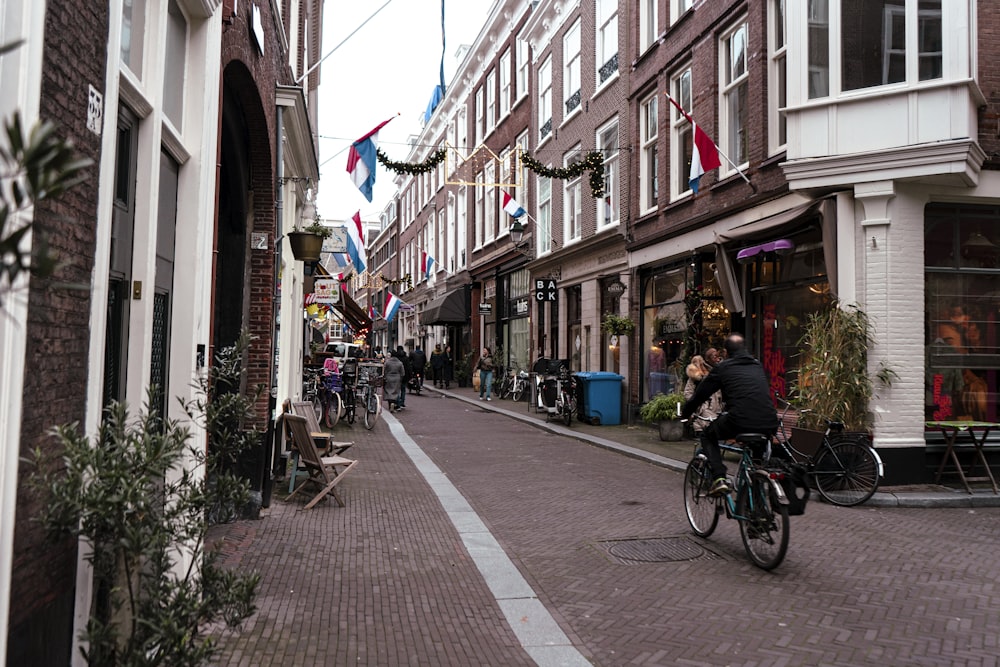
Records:
[[[444,80],[450,86],[461,44],[471,45],[495,0],[445,0]],[[384,0],[328,0],[323,55],[383,6]],[[379,146],[405,160],[406,140],[420,132],[420,119],[440,79],[441,0],[390,0],[322,64],[319,87],[320,217],[347,219],[361,211],[375,220],[395,192],[395,174],[377,168],[371,203],[347,174],[348,147],[386,118]],[[334,157],[336,156],[336,157]]]

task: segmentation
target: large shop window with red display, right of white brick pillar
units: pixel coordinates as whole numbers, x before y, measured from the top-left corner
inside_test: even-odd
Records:
[[[926,419],[997,421],[1000,207],[931,204],[924,217]]]

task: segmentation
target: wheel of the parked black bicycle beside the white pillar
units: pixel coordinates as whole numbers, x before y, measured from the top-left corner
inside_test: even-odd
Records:
[[[811,471],[827,502],[860,505],[878,489],[878,456],[866,442],[843,439],[825,443]]]

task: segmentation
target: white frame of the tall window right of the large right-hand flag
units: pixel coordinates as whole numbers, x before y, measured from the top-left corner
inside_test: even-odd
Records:
[[[737,57],[739,42],[743,42],[742,57]],[[749,110],[740,108],[742,95],[749,98],[750,78],[750,25],[746,17],[739,19],[732,28],[719,39],[719,139],[722,153],[740,167],[749,164]],[[739,117],[742,115],[742,123]],[[735,118],[734,118],[735,116]],[[745,152],[741,153],[740,145]],[[719,167],[719,178],[735,173],[736,170],[725,160]]]

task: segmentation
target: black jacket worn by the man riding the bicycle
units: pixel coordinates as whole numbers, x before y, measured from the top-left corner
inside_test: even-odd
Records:
[[[771,386],[760,362],[742,351],[712,369],[698,383],[694,395],[681,408],[681,417],[690,417],[712,394],[722,390],[722,402],[730,423],[748,431],[774,431],[778,413],[771,398]]]

